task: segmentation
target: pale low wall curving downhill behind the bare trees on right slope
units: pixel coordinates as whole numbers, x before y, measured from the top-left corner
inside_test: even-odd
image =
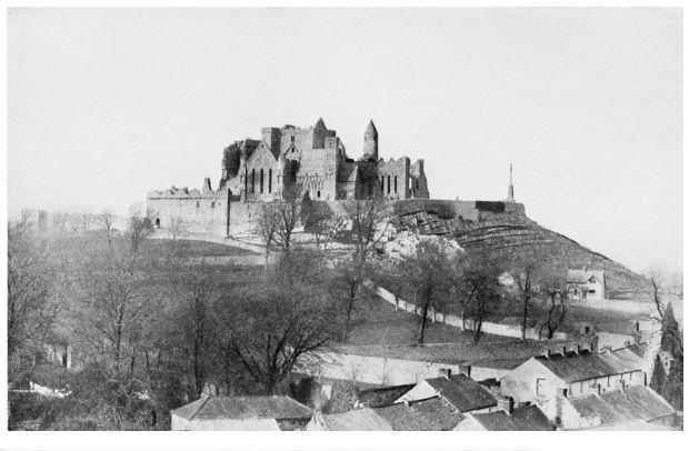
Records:
[[[372,282],[367,282],[367,287],[371,289],[376,294],[378,294],[382,300],[395,305],[396,309],[421,315],[421,309],[419,307],[417,307],[416,304],[411,302],[407,302],[399,297],[396,297],[395,294],[392,294],[385,288],[377,287]],[[466,321],[462,321],[461,317],[437,312],[433,309],[429,309],[428,319],[431,320],[432,322],[441,322],[443,324],[452,325],[461,330],[473,330],[473,321],[469,319],[467,319]],[[490,333],[493,335],[521,338],[521,328],[517,325],[500,324],[497,322],[483,321],[483,324],[481,325],[481,330],[485,333]],[[533,328],[527,329],[527,338],[532,339],[532,340],[541,340],[538,331]],[[563,332],[556,332],[552,339],[553,340],[569,340],[570,337],[568,337],[567,333],[563,333]]]

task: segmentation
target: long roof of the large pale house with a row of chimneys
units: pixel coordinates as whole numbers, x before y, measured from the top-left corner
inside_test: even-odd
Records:
[[[535,359],[565,382],[640,371],[643,367],[641,358],[629,348],[600,353],[568,352],[567,355],[538,355]]]

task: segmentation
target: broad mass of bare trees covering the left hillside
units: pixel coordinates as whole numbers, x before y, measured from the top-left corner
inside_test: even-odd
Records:
[[[10,383],[36,380],[46,343],[69,343],[70,405],[83,397],[83,424],[108,429],[164,429],[171,409],[203,392],[284,390],[290,372],[348,330],[346,304],[331,295],[337,273],[322,252],[290,242],[294,203],[274,204],[283,252],[263,271],[151,252],[139,209],[123,232],[112,221],[59,234],[12,224]]]

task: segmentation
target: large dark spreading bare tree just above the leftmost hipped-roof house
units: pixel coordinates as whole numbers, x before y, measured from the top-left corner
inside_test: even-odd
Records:
[[[318,261],[303,250],[286,253],[262,288],[251,284],[217,303],[228,350],[267,393],[339,337],[337,303]]]

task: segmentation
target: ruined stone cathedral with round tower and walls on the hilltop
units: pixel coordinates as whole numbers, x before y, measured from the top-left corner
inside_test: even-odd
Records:
[[[329,130],[322,119],[308,129],[289,124],[263,128],[261,139],[236,141],[224,149],[217,190],[207,178],[201,190],[171,187],[150,191],[148,216],[162,228],[172,218],[181,218],[193,231],[230,235],[253,227],[252,217],[261,203],[284,199],[288,193],[330,206],[371,198],[403,202],[407,207],[428,203],[423,160],[412,163],[401,157],[385,161],[379,157],[378,143],[373,121],[363,133],[363,152],[357,160],[347,154],[336,131]],[[511,181],[508,198],[505,202],[490,202],[497,204],[491,209],[522,213],[523,207],[515,203]],[[481,203],[431,202],[447,202],[465,218],[476,216],[480,210],[477,204]]]

